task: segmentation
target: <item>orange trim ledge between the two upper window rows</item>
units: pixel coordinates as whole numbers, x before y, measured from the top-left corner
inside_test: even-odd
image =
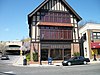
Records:
[[[39,26],[69,26],[72,27],[72,24],[70,23],[53,23],[53,22],[39,22]]]

